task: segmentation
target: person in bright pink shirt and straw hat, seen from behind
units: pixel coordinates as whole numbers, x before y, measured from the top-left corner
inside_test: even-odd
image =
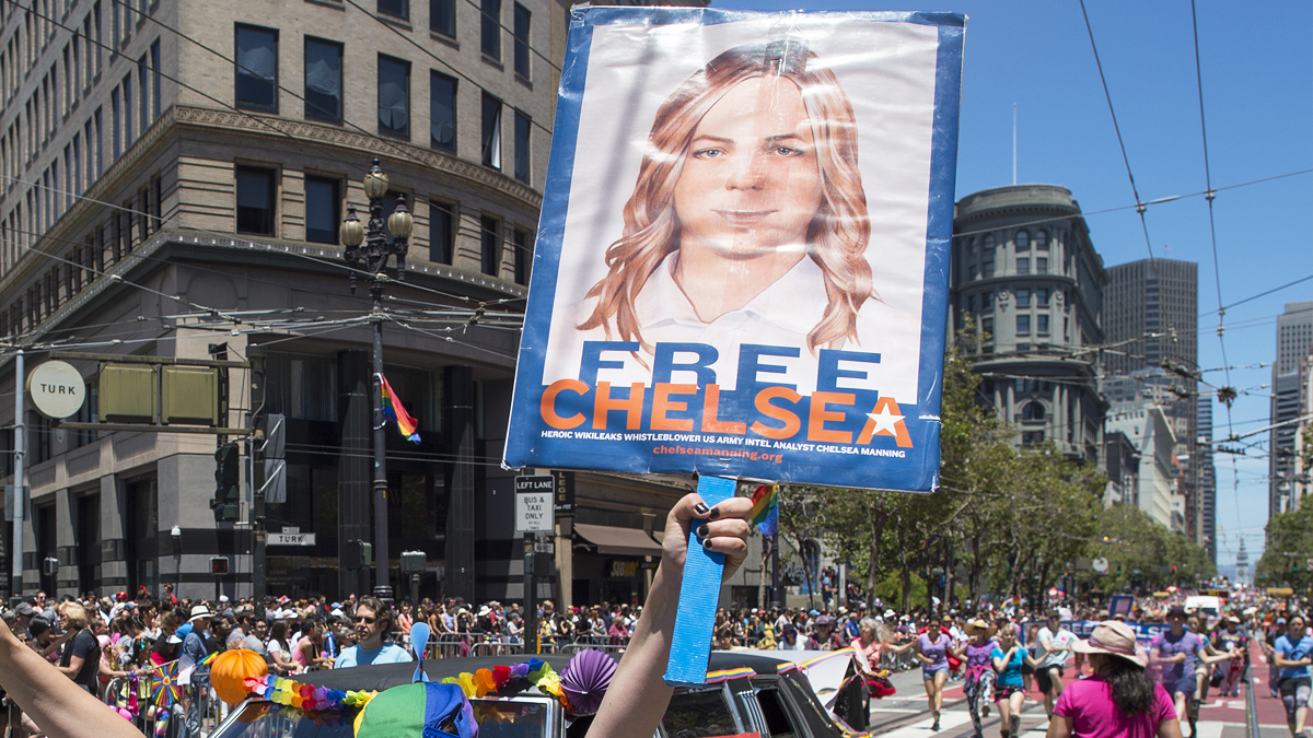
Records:
[[[1104,620],[1073,650],[1090,657],[1094,675],[1062,691],[1046,738],[1180,738],[1175,704],[1145,674],[1149,654],[1129,625]]]

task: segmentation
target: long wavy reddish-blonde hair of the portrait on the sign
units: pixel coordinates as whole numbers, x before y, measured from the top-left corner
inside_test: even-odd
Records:
[[[679,248],[675,184],[699,122],[737,84],[763,76],[798,85],[815,139],[821,207],[807,227],[807,255],[825,277],[829,303],[807,334],[807,348],[857,340],[857,311],[874,298],[867,243],[871,219],[857,169],[857,125],[834,72],[807,70],[817,55],[796,41],[737,46],[695,72],[656,110],[634,193],[625,204],[624,235],[607,248],[605,277],[588,290],[597,305],[580,331],[614,330],[621,340],[651,347],[639,332],[634,299],[662,261]]]

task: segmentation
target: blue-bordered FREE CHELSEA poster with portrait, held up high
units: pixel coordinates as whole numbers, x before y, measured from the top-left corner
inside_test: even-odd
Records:
[[[932,490],[965,18],[572,13],[506,464]]]

